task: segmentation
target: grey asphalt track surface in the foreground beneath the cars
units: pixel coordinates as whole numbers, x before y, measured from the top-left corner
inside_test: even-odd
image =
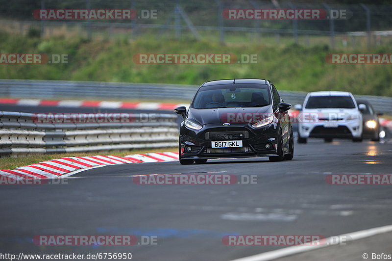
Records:
[[[0,253],[125,252],[132,253],[132,260],[143,261],[227,261],[284,246],[226,246],[221,241],[224,235],[327,237],[390,225],[390,185],[330,185],[325,177],[391,174],[391,159],[390,140],[312,140],[295,144],[291,161],[269,162],[262,157],[211,160],[202,165],[132,163],[80,172],[68,184],[3,185]],[[139,185],[132,181],[133,175],[140,174],[207,172],[239,179],[257,175],[257,184]],[[36,235],[155,235],[157,244],[37,246],[31,243]],[[368,250],[392,254],[391,237],[377,242],[377,249]],[[363,260],[364,248],[371,244],[363,245],[351,250],[352,260]],[[333,247],[323,251],[331,253]],[[298,260],[331,260],[324,257],[305,255]]]

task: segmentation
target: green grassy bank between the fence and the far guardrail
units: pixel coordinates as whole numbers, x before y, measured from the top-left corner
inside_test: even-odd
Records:
[[[392,65],[332,65],[325,61],[325,56],[333,52],[392,53],[391,43],[373,50],[348,50],[337,45],[332,51],[323,44],[304,47],[284,41],[282,38],[282,44],[275,44],[270,37],[220,44],[208,40],[157,40],[147,35],[134,41],[122,37],[114,41],[89,42],[78,37],[25,38],[2,32],[1,53],[65,53],[70,58],[68,64],[1,65],[0,78],[195,85],[219,78],[268,78],[281,90],[343,90],[354,94],[392,96]],[[144,65],[132,60],[137,53],[257,54],[258,62]]]

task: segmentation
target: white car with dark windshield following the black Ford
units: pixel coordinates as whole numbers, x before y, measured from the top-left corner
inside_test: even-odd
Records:
[[[354,96],[349,92],[311,92],[303,107],[295,105],[298,114],[298,143],[307,138],[350,138],[362,141],[363,119]]]

